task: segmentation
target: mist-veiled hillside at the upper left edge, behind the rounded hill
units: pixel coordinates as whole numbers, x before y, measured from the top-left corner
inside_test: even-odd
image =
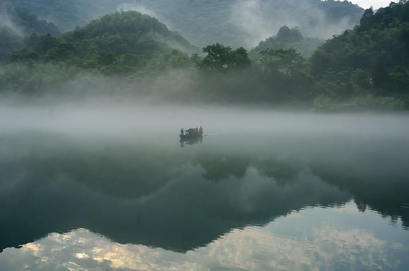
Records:
[[[0,6],[0,62],[7,61],[14,50],[24,46],[24,37],[36,34],[58,36],[60,32],[53,23],[39,20],[27,9],[17,8],[9,4]]]

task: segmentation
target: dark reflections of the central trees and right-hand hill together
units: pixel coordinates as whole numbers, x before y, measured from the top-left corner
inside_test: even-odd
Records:
[[[403,172],[409,170],[409,166],[402,167],[399,164],[405,161],[404,157],[398,158],[400,162],[396,164],[393,159],[380,160],[381,154],[362,157],[357,152],[352,154],[354,159],[351,159],[350,154],[340,156],[342,151],[338,150],[336,157],[327,159],[333,156],[333,150],[327,151],[329,154],[317,154],[310,162],[301,162],[293,157],[283,158],[280,153],[221,157],[208,154],[198,157],[196,161],[205,169],[206,173],[202,177],[207,180],[244,178],[246,170],[253,166],[261,176],[273,179],[280,186],[294,184],[301,171],[310,168],[323,181],[351,193],[359,210],[365,211],[369,206],[381,215],[390,216],[392,220],[401,217],[404,226],[409,227],[409,208],[406,208],[409,203],[409,171]],[[357,160],[361,163],[357,163]]]

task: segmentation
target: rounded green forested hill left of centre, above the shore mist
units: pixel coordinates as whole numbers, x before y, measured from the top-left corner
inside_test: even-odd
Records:
[[[159,64],[162,60],[180,63],[188,59],[186,53],[199,52],[156,18],[137,11],[106,14],[59,38],[32,35],[26,44],[24,50],[12,54],[13,62],[64,62],[104,74],[156,69],[166,65]]]

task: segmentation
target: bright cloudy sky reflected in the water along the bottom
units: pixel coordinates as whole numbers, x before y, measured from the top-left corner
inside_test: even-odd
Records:
[[[342,214],[343,219],[339,216]],[[348,226],[342,221],[348,221]],[[0,254],[4,270],[55,269],[395,269],[409,264],[409,233],[400,219],[343,207],[311,207],[265,227],[233,230],[203,248],[180,254],[144,245],[119,244],[86,229],[53,233]],[[249,249],[252,248],[252,249]]]

